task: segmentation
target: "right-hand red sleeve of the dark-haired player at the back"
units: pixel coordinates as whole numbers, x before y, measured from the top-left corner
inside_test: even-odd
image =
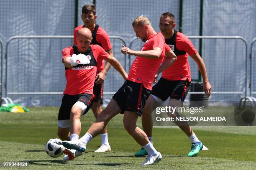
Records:
[[[101,27],[97,30],[96,41],[102,45],[104,50],[112,49],[110,39],[108,37],[108,33]]]

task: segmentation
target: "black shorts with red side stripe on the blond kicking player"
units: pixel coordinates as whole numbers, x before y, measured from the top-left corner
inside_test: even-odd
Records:
[[[121,114],[124,111],[131,111],[137,112],[141,116],[150,92],[151,90],[146,89],[143,83],[126,80],[118,92],[115,93],[113,99],[122,110]]]

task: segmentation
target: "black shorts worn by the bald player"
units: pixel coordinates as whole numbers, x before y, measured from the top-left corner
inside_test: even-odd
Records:
[[[93,95],[92,94],[79,94],[79,95],[66,95],[62,97],[61,107],[59,108],[58,120],[69,120],[71,108],[76,102],[83,102],[87,105],[83,115],[88,112],[92,106]]]

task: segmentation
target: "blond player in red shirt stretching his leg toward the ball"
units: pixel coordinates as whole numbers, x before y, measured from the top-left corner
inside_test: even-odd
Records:
[[[123,53],[137,56],[131,65],[127,80],[115,93],[106,109],[100,113],[87,133],[77,141],[63,141],[62,145],[66,148],[84,151],[87,143],[100,134],[108,121],[118,113],[122,113],[124,114],[123,125],[125,130],[148,152],[146,161],[141,165],[153,165],[159,162],[162,156],[150,143],[143,130],[137,127],[136,122],[138,116],[142,114],[143,107],[152,89],[154,76],[165,55],[164,36],[161,33],[156,33],[149,20],[143,15],[133,21],[133,30],[136,36],[141,38],[145,44],[141,51],[133,51],[128,47],[122,47],[121,51]],[[169,56],[169,54],[166,55]],[[172,60],[170,61],[172,62]]]

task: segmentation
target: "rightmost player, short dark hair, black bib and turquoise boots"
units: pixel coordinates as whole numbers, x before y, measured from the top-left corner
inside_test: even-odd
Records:
[[[188,62],[189,54],[193,60],[197,63],[197,66],[202,74],[203,78],[203,90],[205,94],[209,97],[211,94],[211,85],[207,78],[205,63],[197,53],[197,50],[193,46],[192,42],[181,32],[174,30],[176,23],[174,20],[174,15],[172,13],[163,13],[160,17],[159,28],[161,33],[164,35],[165,42],[169,45],[177,56],[177,60],[171,67],[168,67],[163,71],[162,77],[159,82],[153,87],[151,95],[146,101],[145,108],[143,110],[142,116],[142,126],[143,130],[148,136],[148,139],[152,143],[152,120],[151,113],[156,107],[156,101],[165,101],[170,97],[169,106],[171,107],[181,107],[185,97],[190,88],[191,75]],[[157,77],[158,75],[156,75]],[[153,106],[154,104],[154,106]],[[178,112],[174,114],[168,114],[171,117],[179,116]],[[187,121],[176,121],[175,122],[179,128],[183,130],[184,133],[189,137],[192,147],[188,153],[188,157],[195,156],[202,149],[203,144],[197,138],[192,128],[189,126]],[[135,156],[147,155],[147,151],[141,148],[140,151],[135,153]]]

